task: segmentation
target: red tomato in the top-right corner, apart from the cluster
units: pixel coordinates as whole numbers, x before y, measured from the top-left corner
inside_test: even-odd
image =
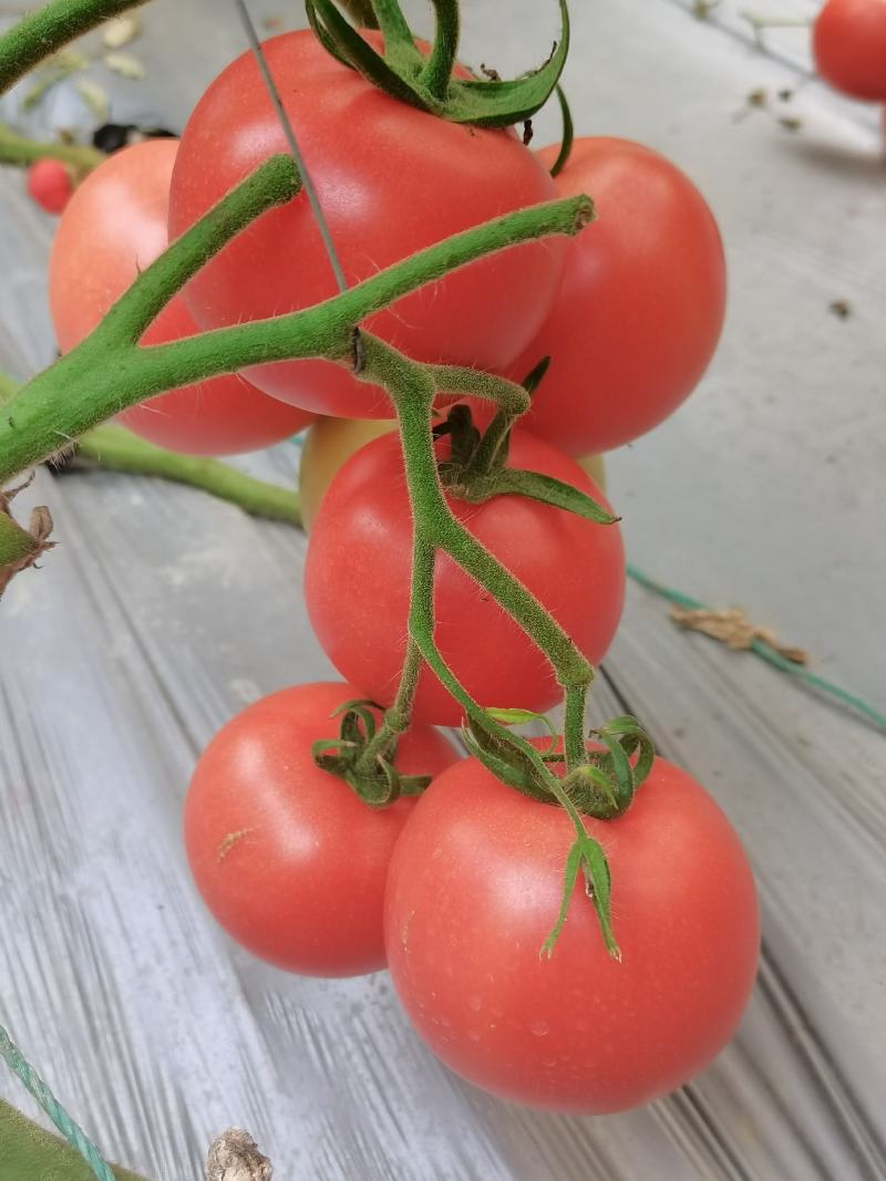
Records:
[[[835,90],[886,99],[886,0],[828,0],[813,27],[813,57]]]

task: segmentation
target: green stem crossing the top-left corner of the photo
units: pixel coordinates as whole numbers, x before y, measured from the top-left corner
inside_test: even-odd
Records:
[[[0,94],[44,58],[144,0],[52,0],[0,37]]]

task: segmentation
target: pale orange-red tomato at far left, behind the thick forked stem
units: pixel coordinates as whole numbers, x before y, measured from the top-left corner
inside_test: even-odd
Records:
[[[71,198],[50,259],[50,309],[63,353],[96,327],[141,269],[167,247],[175,139],[152,139],[109,156]],[[196,332],[181,295],[142,338],[158,345]],[[278,443],[313,416],[268,398],[236,373],[163,393],[119,415],[161,446],[228,455]]]

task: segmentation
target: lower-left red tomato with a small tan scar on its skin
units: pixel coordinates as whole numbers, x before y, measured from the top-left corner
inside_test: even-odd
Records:
[[[387,863],[416,797],[369,808],[311,755],[315,739],[338,737],[332,712],[359,696],[321,683],[250,705],[213,738],[184,804],[203,901],[239,944],[291,972],[357,976],[385,963]],[[436,775],[456,759],[441,733],[413,726],[396,765]]]

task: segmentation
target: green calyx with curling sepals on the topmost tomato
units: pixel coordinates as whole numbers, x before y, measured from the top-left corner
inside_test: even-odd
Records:
[[[416,46],[398,0],[361,0],[357,7],[350,0],[340,2],[358,13],[371,6],[372,26],[380,31],[384,50],[377,52],[333,0],[305,0],[308,21],[324,48],[392,98],[451,123],[478,128],[526,123],[548,100],[566,64],[569,46],[566,0],[558,0],[562,32],[551,56],[538,70],[514,79],[501,79],[496,71],[486,67],[483,78],[455,76],[458,0],[431,0],[436,31],[428,56]]]

